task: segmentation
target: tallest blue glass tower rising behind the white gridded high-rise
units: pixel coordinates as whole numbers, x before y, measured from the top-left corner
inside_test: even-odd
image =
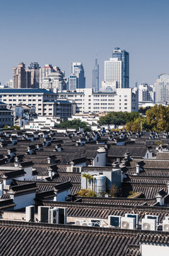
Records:
[[[129,88],[129,53],[117,47],[112,51],[112,58],[122,62],[122,88]]]

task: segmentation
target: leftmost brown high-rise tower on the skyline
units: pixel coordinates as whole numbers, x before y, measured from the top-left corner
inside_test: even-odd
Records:
[[[18,68],[13,67],[13,88],[26,88],[26,71],[24,63],[19,63]]]

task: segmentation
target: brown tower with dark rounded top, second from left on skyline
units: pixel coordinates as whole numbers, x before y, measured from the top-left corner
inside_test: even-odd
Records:
[[[40,86],[40,66],[38,63],[30,63],[26,70],[26,82],[29,88],[39,88]]]

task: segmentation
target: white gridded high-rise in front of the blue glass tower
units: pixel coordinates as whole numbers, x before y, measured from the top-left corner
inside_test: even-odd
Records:
[[[110,58],[105,60],[105,82],[116,82],[122,88],[122,60]]]

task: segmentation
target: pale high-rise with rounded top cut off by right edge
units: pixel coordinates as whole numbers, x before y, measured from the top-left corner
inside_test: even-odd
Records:
[[[169,104],[169,74],[162,74],[154,83],[156,103]]]

